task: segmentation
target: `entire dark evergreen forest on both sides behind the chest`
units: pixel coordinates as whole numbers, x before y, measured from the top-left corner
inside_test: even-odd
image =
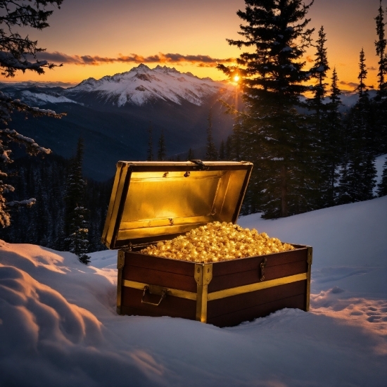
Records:
[[[350,108],[341,101],[340,74],[329,63],[324,27],[312,44],[314,29],[307,28],[310,20],[305,18],[312,3],[305,6],[289,0],[280,2],[280,8],[253,3],[246,0],[246,12],[238,12],[246,22],[241,25],[243,39],[229,40],[229,44],[253,45],[255,52],[241,54],[235,66],[218,65],[230,80],[239,79],[243,108],[222,101],[225,113],[234,117],[234,127],[227,141],[220,142],[214,138],[208,107],[204,161],[254,164],[241,215],[260,212],[273,219],[374,198],[375,158],[387,153],[387,40],[381,2],[374,18],[378,85],[371,95],[367,55],[372,54],[360,48],[357,101]],[[305,69],[303,55],[310,46],[315,48],[314,62]],[[9,129],[2,133],[31,147],[27,137]],[[153,149],[153,136],[150,124],[147,160],[196,158],[198,150],[189,148],[190,144],[186,144],[186,154],[168,155],[163,130],[158,148]],[[11,219],[11,227],[0,229],[1,239],[69,250],[85,263],[87,253],[104,248],[100,238],[113,178],[96,182],[83,176],[84,141],[88,139],[78,141],[75,156],[68,160],[39,148],[44,158],[18,158],[11,163],[11,151],[4,151],[3,175],[8,175],[8,185],[1,181],[0,188],[3,184],[4,219]],[[376,194],[387,194],[387,160]]]

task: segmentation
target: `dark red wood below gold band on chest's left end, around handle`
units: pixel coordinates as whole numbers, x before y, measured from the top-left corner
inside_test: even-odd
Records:
[[[158,316],[182,317],[184,319],[195,319],[196,317],[196,301],[194,300],[167,296],[159,306],[154,306],[141,303],[142,294],[141,290],[122,286],[121,312],[126,313],[125,310],[129,307],[141,310],[144,315],[156,314]],[[157,303],[160,296],[147,294],[146,300]]]

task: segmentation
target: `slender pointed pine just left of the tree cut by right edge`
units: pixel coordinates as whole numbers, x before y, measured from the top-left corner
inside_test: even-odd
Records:
[[[364,50],[360,51],[359,99],[351,108],[346,131],[346,157],[338,187],[338,203],[365,201],[374,197],[376,168],[374,165],[374,125],[372,105],[366,84],[367,66]]]

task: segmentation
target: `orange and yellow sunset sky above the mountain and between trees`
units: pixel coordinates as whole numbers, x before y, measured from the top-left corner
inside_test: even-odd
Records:
[[[382,4],[386,10],[387,0]],[[63,67],[42,76],[19,72],[13,80],[79,83],[125,72],[139,63],[222,80],[224,75],[215,65],[240,55],[241,50],[226,39],[239,37],[243,20],[236,11],[244,8],[243,0],[64,0],[51,15],[50,27],[20,30],[46,49],[44,58]],[[324,25],[329,64],[332,69],[336,66],[342,89],[355,87],[362,48],[366,84],[376,87],[378,8],[379,0],[315,0],[310,8],[309,26],[315,27],[316,38]],[[305,68],[314,52],[305,54]]]

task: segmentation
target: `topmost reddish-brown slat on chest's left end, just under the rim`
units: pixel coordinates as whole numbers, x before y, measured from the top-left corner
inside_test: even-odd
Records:
[[[171,260],[154,255],[125,251],[125,265],[160,270],[161,272],[194,276],[195,262]]]

